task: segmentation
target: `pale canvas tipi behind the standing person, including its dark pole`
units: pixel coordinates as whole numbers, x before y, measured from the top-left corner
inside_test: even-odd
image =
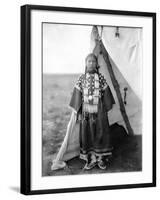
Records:
[[[116,30],[119,32],[115,34],[115,27],[93,26],[90,52],[97,55],[100,72],[106,78],[116,101],[109,112],[110,125],[116,122],[122,124],[129,135],[141,134],[141,30]],[[73,111],[51,169],[65,167],[65,161],[78,155],[79,124]]]

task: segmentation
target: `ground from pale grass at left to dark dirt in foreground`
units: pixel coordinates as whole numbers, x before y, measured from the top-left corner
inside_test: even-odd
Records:
[[[55,158],[66,133],[71,110],[68,105],[74,83],[78,74],[43,75],[43,163],[42,175],[68,175],[86,173],[104,173],[94,168],[83,171],[84,162],[74,158],[68,162],[68,167],[52,172],[51,160]],[[124,143],[115,149],[110,166],[105,172],[139,171],[141,166],[141,136],[126,138]]]

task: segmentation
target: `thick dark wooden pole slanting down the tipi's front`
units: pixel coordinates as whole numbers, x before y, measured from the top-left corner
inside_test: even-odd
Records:
[[[127,113],[126,113],[126,109],[125,109],[125,106],[124,106],[124,103],[123,103],[123,99],[122,99],[122,96],[121,96],[119,84],[118,84],[118,81],[117,81],[117,79],[115,77],[114,71],[112,69],[112,65],[111,65],[110,60],[109,60],[108,52],[107,52],[106,48],[104,47],[104,44],[103,44],[102,40],[99,40],[99,45],[100,45],[100,49],[101,49],[103,58],[104,58],[104,60],[105,60],[105,62],[107,64],[107,68],[108,68],[108,71],[109,71],[109,74],[110,74],[110,77],[111,77],[111,81],[112,81],[113,87],[114,87],[114,89],[116,91],[116,94],[117,94],[117,98],[118,98],[119,105],[120,105],[120,111],[121,111],[122,117],[124,119],[126,128],[128,130],[128,134],[129,135],[134,135],[133,129],[132,129],[131,125],[130,125],[130,122],[129,122],[129,119],[128,119],[128,116],[127,116]]]

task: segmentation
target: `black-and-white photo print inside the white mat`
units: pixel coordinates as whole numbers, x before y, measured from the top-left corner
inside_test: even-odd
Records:
[[[43,23],[43,176],[142,170],[142,28]]]

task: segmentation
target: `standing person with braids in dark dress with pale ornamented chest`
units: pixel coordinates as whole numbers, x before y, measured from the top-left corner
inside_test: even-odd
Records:
[[[96,164],[106,169],[107,157],[112,154],[107,112],[115,101],[99,73],[97,57],[89,54],[85,62],[85,74],[76,82],[70,101],[80,123],[80,158],[86,161],[84,169],[92,169]]]

